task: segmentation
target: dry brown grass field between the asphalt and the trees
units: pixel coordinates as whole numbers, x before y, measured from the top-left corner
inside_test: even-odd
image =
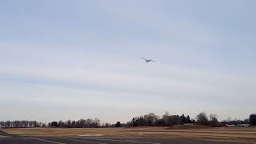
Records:
[[[102,134],[114,137],[162,137],[162,138],[192,138],[226,142],[256,143],[256,127],[246,128],[194,128],[170,129],[167,127],[137,127],[137,128],[98,128],[98,129],[68,129],[68,128],[24,128],[6,129],[9,134],[21,134],[36,137],[70,137],[85,134]]]

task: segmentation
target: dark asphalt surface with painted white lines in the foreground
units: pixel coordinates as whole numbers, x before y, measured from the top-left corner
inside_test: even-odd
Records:
[[[114,137],[72,137],[72,138],[29,138],[10,135],[0,131],[0,144],[234,144],[232,142],[210,142],[178,138],[114,138]]]

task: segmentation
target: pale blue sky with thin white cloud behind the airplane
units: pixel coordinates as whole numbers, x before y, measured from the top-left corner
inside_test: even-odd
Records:
[[[256,112],[253,0],[2,0],[0,120]],[[156,62],[145,63],[143,58]]]

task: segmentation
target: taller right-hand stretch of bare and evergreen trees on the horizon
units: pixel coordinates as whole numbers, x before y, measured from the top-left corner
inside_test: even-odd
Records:
[[[250,117],[245,120],[234,119],[231,120],[228,118],[225,121],[219,122],[217,114],[210,114],[209,116],[201,112],[196,118],[191,118],[184,114],[182,115],[172,115],[166,112],[162,117],[155,115],[154,113],[141,115],[138,117],[132,118],[130,122],[127,122],[128,126],[173,126],[173,125],[183,125],[183,124],[197,124],[202,126],[227,126],[227,125],[239,125],[239,124],[248,124],[251,126],[256,126],[256,114],[250,114]],[[123,124],[126,126],[126,124]]]

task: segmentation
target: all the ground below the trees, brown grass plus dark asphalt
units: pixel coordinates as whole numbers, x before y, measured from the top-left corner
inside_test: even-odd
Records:
[[[10,138],[0,138],[0,143],[256,143],[256,127],[246,128],[194,128],[176,129],[167,127],[138,128],[27,128],[5,129]],[[0,133],[1,135],[1,133]],[[19,135],[18,137],[15,135]],[[33,143],[32,142],[32,143]],[[48,142],[48,143],[49,143]]]

